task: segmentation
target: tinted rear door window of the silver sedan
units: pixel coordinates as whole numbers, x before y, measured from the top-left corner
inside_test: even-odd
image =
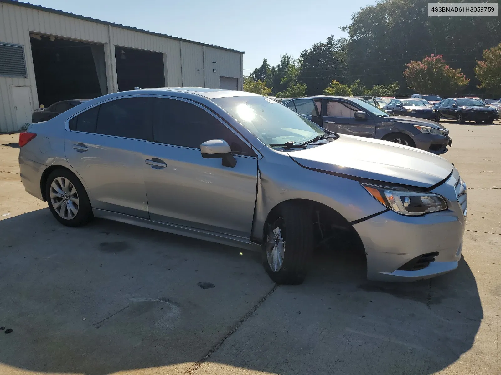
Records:
[[[101,104],[96,132],[146,139],[149,126],[148,103],[147,97],[128,97]]]

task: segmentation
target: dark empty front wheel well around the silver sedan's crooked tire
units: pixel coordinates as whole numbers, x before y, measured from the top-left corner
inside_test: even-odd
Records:
[[[333,249],[333,247],[336,247],[337,249],[339,248],[338,245],[342,243],[342,247],[349,247],[350,250],[361,251],[365,254],[360,236],[353,225],[343,215],[325,204],[309,199],[291,199],[277,204],[268,213],[265,221],[262,237],[263,242],[267,240],[268,223],[273,222],[277,218],[283,204],[311,205],[315,248]]]

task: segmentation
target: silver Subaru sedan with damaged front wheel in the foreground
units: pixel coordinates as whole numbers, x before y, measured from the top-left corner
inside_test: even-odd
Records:
[[[20,146],[26,190],[62,224],[102,217],[257,249],[278,283],[301,283],[336,233],[363,246],[372,280],[433,277],[461,257],[466,184],[450,162],[265,96],[112,93],[32,124]]]

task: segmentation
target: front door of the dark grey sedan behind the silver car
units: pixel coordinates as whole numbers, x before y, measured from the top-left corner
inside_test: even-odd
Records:
[[[334,99],[324,99],[322,121],[324,128],[338,133],[374,137],[376,128],[372,117],[355,118],[355,112],[362,110],[355,105]]]

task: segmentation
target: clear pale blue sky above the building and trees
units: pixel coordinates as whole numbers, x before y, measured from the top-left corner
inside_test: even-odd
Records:
[[[376,0],[31,0],[84,16],[245,51],[243,73],[283,53],[299,57],[327,36],[346,36],[360,7]]]

